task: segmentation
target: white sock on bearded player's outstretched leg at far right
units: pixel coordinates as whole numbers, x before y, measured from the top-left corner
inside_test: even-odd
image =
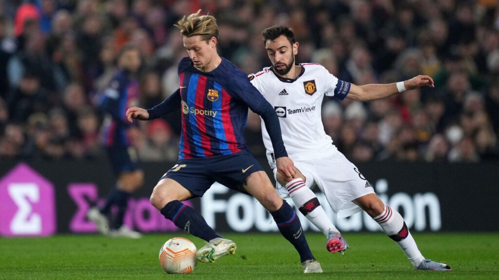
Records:
[[[416,241],[414,241],[400,213],[385,205],[383,213],[373,219],[381,226],[388,237],[397,242],[412,265],[417,268],[425,258],[419,252]]]

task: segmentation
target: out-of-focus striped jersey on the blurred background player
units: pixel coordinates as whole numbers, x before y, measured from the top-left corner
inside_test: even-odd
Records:
[[[127,121],[128,108],[138,106],[139,83],[129,78],[124,71],[118,71],[109,86],[102,92],[99,100],[101,109],[106,113],[102,127],[102,141],[106,146],[131,144],[127,130],[134,126]]]

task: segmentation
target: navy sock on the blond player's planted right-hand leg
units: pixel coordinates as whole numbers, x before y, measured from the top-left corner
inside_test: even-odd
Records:
[[[284,238],[286,238],[291,244],[293,244],[298,254],[300,254],[301,263],[308,260],[315,260],[308,247],[307,240],[305,239],[305,233],[301,228],[300,220],[296,216],[293,208],[287,204],[284,200],[281,208],[279,210],[270,213],[274,218],[280,233]]]

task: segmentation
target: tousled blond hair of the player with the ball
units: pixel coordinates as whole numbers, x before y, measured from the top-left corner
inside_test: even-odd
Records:
[[[179,27],[180,34],[185,37],[202,36],[203,40],[210,40],[212,37],[218,41],[217,20],[212,15],[200,15],[201,9],[196,13],[184,15],[181,20],[175,24]]]

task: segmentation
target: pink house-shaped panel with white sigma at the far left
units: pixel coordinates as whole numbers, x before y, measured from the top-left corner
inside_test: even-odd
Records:
[[[55,233],[52,183],[24,163],[0,180],[0,235],[48,236]]]

